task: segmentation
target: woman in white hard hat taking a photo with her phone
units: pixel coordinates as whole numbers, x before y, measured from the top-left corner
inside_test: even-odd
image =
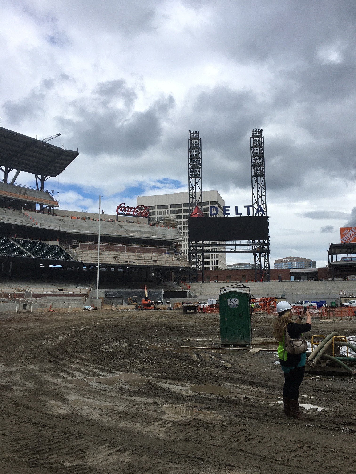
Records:
[[[284,372],[283,405],[284,414],[293,418],[301,418],[299,410],[299,387],[303,382],[307,344],[302,333],[311,329],[309,311],[298,316],[297,321],[291,322],[292,308],[287,301],[277,304],[277,319],[274,323],[273,336],[279,342],[278,358]],[[307,321],[302,324],[303,317]]]

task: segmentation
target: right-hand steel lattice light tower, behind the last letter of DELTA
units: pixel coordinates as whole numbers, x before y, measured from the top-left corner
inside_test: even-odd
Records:
[[[262,128],[252,130],[250,137],[251,184],[253,216],[267,216],[266,175],[264,169],[264,142]],[[270,281],[270,237],[253,242],[255,279]]]

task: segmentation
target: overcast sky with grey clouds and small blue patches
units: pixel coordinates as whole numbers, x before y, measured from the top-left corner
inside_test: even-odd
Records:
[[[60,132],[51,143],[80,155],[48,189],[62,209],[102,194],[107,213],[187,191],[189,129],[203,188],[251,204],[262,127],[272,266],[325,266],[356,224],[355,25],[355,0],[0,0],[0,125]]]

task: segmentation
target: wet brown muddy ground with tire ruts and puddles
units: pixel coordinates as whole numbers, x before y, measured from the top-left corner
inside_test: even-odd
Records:
[[[272,342],[272,320],[254,319],[256,342]],[[306,375],[300,400],[322,409],[287,418],[274,352],[180,349],[218,346],[218,315],[2,314],[0,327],[2,474],[356,473],[356,377]],[[336,329],[356,322],[313,321]]]

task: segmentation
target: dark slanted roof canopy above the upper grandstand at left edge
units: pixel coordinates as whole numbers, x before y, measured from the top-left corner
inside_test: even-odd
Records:
[[[0,166],[55,177],[79,155],[0,127]]]

